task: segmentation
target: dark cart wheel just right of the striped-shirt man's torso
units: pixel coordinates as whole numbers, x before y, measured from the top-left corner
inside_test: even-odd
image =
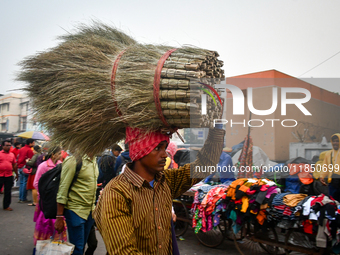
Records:
[[[188,229],[189,223],[184,220],[189,220],[189,213],[181,200],[174,199],[172,201],[172,205],[174,207],[174,211],[177,217],[176,222],[174,222],[175,234],[176,237],[179,237],[181,235],[184,235],[184,233]]]

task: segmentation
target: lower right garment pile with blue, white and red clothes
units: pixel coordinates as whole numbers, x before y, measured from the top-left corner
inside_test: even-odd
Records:
[[[333,251],[340,253],[340,207],[333,198],[281,193],[274,197],[266,216],[277,227],[301,227],[305,233],[315,235],[317,247],[326,248],[327,241],[331,241]]]

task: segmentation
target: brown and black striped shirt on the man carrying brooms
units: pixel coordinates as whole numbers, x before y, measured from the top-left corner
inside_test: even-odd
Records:
[[[210,174],[196,172],[196,166],[216,167],[223,137],[224,130],[211,129],[196,161],[157,174],[154,188],[129,164],[111,180],[94,211],[108,254],[172,254],[172,199]]]

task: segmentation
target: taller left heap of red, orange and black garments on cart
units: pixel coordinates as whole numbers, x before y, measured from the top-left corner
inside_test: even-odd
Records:
[[[237,225],[242,225],[249,216],[263,224],[268,203],[280,192],[276,184],[267,179],[241,178],[213,187],[206,195],[201,188],[195,193],[192,212],[196,233],[216,227],[222,215]]]

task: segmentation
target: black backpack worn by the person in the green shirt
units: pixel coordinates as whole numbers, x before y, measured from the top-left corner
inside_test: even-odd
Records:
[[[76,173],[71,182],[69,192],[73,183],[77,180],[82,162],[77,161]],[[40,194],[39,206],[46,219],[55,219],[57,216],[57,193],[59,190],[62,164],[56,165],[51,170],[44,173],[38,182]]]

